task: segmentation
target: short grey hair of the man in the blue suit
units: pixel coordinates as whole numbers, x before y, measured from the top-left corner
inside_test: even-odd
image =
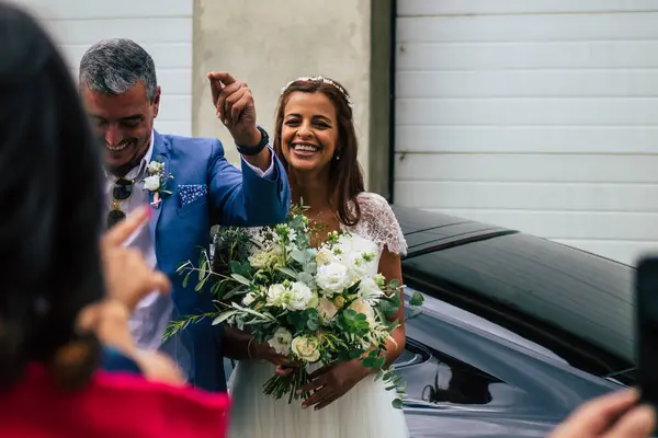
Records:
[[[80,85],[104,94],[123,94],[144,81],[152,103],[158,80],[150,55],[132,39],[103,39],[87,50],[80,60]]]

